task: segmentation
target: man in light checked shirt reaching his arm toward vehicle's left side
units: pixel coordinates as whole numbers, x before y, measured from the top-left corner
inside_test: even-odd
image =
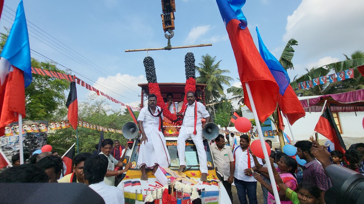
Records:
[[[119,162],[119,160],[116,160],[110,154],[110,152],[112,150],[112,144],[114,144],[114,142],[112,142],[111,139],[104,139],[102,141],[100,155],[106,156],[106,158],[108,160],[107,172],[106,172],[105,179],[104,179],[105,184],[114,186],[115,176],[118,176],[118,175],[128,171],[128,169],[131,167],[131,163],[128,163],[126,165],[125,169],[123,169],[123,170],[114,171],[115,167],[123,167],[123,163]]]

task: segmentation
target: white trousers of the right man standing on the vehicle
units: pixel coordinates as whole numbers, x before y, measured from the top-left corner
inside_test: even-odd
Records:
[[[197,154],[198,154],[198,160],[200,163],[200,171],[201,173],[207,174],[207,156],[205,151],[205,146],[203,146],[203,139],[202,139],[202,130],[197,131],[197,134],[187,134],[186,129],[181,130],[178,135],[177,139],[177,151],[178,151],[178,157],[179,157],[179,165],[186,165],[185,161],[185,147],[186,147],[186,140],[190,138],[195,143]]]

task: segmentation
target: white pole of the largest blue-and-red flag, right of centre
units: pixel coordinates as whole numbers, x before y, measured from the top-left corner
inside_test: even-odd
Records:
[[[250,90],[250,86],[249,86],[248,82],[245,82],[245,87],[246,87],[246,92],[248,93],[248,96],[249,96],[250,105],[252,106],[252,112],[253,112],[253,115],[254,115],[254,119],[255,119],[256,124],[257,124],[259,140],[260,140],[260,143],[262,145],[264,158],[265,158],[265,161],[268,162],[267,168],[268,168],[270,182],[272,183],[274,198],[276,199],[277,204],[281,204],[281,201],[280,201],[279,195],[278,195],[277,185],[275,185],[276,180],[274,179],[272,166],[270,165],[270,162],[269,162],[268,151],[265,148],[265,141],[264,141],[264,138],[263,138],[263,132],[262,132],[262,128],[260,126],[260,122],[259,122],[259,119],[258,119],[257,110],[255,108],[255,104],[254,104],[254,100],[253,100],[253,96],[252,96],[252,91]]]

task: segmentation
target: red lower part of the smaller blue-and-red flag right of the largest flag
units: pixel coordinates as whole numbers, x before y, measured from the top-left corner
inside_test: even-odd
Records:
[[[291,125],[306,115],[301,102],[298,100],[297,95],[294,93],[291,85],[287,87],[284,95],[278,96],[278,105],[282,110],[282,113],[287,114],[289,123]]]

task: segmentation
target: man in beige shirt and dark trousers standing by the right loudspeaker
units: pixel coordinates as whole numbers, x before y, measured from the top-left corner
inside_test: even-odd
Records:
[[[231,184],[234,181],[234,157],[230,147],[225,146],[225,137],[219,134],[215,139],[215,144],[211,146],[212,156],[216,169],[216,175],[224,185],[227,194],[233,203]]]

